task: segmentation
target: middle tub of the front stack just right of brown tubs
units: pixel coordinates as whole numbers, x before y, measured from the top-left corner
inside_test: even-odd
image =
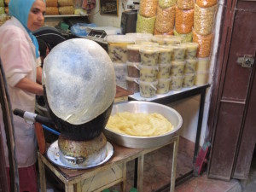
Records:
[[[140,80],[146,82],[156,81],[158,66],[143,66],[139,65]]]

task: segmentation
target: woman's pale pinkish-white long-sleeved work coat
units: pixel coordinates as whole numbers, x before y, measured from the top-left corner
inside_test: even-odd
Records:
[[[34,113],[35,95],[15,88],[24,77],[36,81],[39,59],[35,56],[35,47],[26,29],[19,20],[12,17],[0,27],[0,57],[7,79],[12,108],[20,108]],[[18,167],[32,166],[37,160],[37,140],[33,125],[14,115],[15,148]],[[9,166],[8,150],[3,125],[2,109],[0,108],[0,125],[3,135],[6,165]]]

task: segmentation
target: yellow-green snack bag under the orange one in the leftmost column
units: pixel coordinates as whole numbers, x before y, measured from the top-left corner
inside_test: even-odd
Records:
[[[154,23],[155,23],[155,16],[147,18],[138,14],[136,32],[154,34]]]

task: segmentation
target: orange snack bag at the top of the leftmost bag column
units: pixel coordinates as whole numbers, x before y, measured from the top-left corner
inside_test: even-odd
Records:
[[[141,0],[139,14],[143,17],[154,17],[156,8],[157,0]]]

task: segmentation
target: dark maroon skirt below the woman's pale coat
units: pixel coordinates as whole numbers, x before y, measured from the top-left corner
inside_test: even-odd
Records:
[[[8,183],[10,186],[9,167],[6,167],[6,171],[7,171]],[[37,179],[37,171],[36,171],[35,164],[33,166],[19,168],[18,171],[19,171],[20,192],[23,192],[23,191],[38,192],[38,179]]]

